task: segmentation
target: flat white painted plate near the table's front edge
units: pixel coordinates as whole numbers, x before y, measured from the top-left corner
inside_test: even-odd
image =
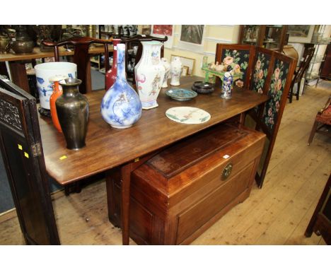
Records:
[[[182,124],[202,124],[210,119],[209,112],[197,107],[172,107],[165,115],[175,122]]]

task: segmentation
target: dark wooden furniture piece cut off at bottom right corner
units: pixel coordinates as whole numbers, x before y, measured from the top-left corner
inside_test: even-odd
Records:
[[[306,237],[310,237],[313,232],[322,235],[327,245],[331,245],[331,175],[307,226]]]

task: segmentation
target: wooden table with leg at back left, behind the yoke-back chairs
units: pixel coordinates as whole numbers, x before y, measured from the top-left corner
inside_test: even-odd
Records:
[[[112,52],[112,47],[109,47],[109,52]],[[100,47],[90,47],[88,54],[102,54],[105,53],[105,48]],[[74,50],[66,50],[64,47],[59,47],[59,55],[61,57],[74,55]],[[33,52],[29,54],[0,54],[0,61],[8,61],[9,69],[11,71],[11,81],[16,84],[16,86],[22,88],[23,90],[30,93],[28,76],[25,71],[25,64],[31,61],[32,59],[54,57],[54,51],[50,52],[40,52],[39,47],[35,47]],[[91,74],[91,65],[88,64],[88,74]],[[91,90],[91,80],[86,83],[87,90]]]

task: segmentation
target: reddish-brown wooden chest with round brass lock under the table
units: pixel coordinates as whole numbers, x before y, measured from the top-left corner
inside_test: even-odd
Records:
[[[132,172],[130,237],[192,242],[249,196],[264,142],[265,134],[220,124],[153,156]],[[108,189],[109,218],[120,226],[119,177]]]

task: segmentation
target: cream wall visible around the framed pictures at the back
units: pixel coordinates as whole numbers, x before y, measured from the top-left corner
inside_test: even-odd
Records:
[[[194,52],[180,47],[180,25],[174,25],[173,47],[171,49],[165,48],[164,57],[170,60],[170,56],[173,54],[195,59],[192,75],[204,76],[201,70],[202,57],[207,55],[208,62],[214,61],[216,43],[236,43],[238,42],[238,35],[239,25],[205,25],[203,51]]]

